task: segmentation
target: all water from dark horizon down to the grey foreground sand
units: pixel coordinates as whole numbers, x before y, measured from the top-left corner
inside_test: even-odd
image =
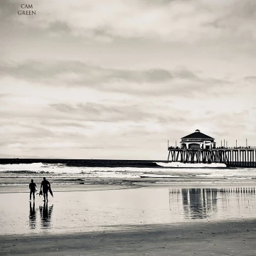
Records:
[[[31,178],[39,186],[44,176],[54,197],[28,202]],[[255,168],[222,164],[0,159],[0,235],[256,218],[255,179]],[[142,186],[90,191],[91,184]]]

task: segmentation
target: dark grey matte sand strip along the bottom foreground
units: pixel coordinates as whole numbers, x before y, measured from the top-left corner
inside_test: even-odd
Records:
[[[0,255],[256,255],[256,221],[134,226],[68,235],[1,236]]]

